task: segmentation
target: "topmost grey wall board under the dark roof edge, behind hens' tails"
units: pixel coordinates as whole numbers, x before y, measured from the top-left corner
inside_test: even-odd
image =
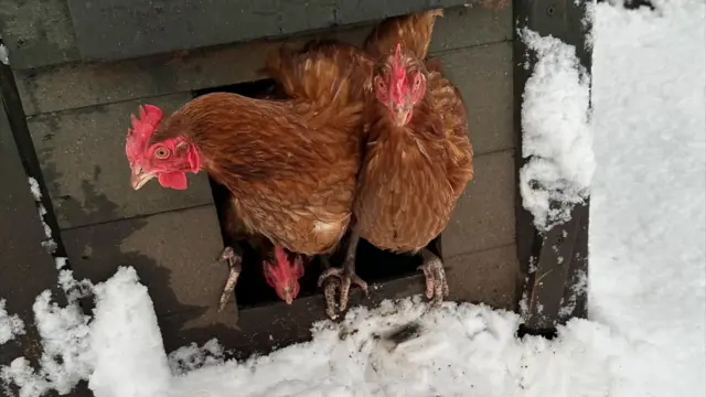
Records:
[[[512,33],[505,10],[461,8],[446,10],[431,41],[434,51],[450,51],[496,43]],[[361,44],[372,25],[335,29],[290,40],[335,37]],[[143,57],[113,63],[76,63],[39,71],[15,71],[22,104],[28,115],[181,93],[261,78],[268,51],[281,42],[254,41],[188,53]],[[471,61],[480,62],[478,57]],[[488,63],[485,63],[488,64]],[[467,65],[470,69],[473,65]]]

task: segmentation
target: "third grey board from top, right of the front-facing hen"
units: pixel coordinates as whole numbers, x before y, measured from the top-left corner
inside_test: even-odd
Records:
[[[515,240],[515,159],[512,150],[478,155],[475,176],[459,197],[441,235],[451,258]]]

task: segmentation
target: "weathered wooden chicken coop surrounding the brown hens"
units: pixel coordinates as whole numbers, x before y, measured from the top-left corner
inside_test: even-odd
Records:
[[[237,326],[233,303],[216,311],[227,268],[216,262],[223,239],[210,180],[202,172],[190,174],[186,191],[153,182],[133,191],[124,150],[129,115],[145,103],[173,110],[213,90],[256,95],[269,85],[257,69],[282,40],[361,44],[383,18],[429,8],[446,9],[430,55],[441,58],[461,90],[475,152],[475,178],[439,239],[450,299],[517,310],[524,294],[522,332],[531,333],[550,333],[558,322],[585,315],[585,296],[571,313],[559,309],[586,271],[588,206],[541,236],[517,190],[520,106],[530,72],[522,67],[526,49],[515,23],[576,45],[590,68],[585,11],[568,0],[516,0],[500,9],[468,0],[0,0],[9,52],[9,65],[0,65],[7,192],[0,196],[0,296],[8,309],[32,323],[34,297],[56,290],[29,174],[40,182],[54,255],[68,257],[76,279],[95,282],[120,266],[135,267],[150,289],[168,352],[218,337],[248,355],[309,337],[312,321],[324,319],[324,304],[306,280],[300,298],[287,305],[274,293],[242,287],[256,278],[244,272]],[[355,290],[353,304],[421,292],[415,258],[360,249],[360,275],[375,287],[370,300]],[[559,264],[558,256],[573,260]],[[538,270],[531,273],[531,266]]]

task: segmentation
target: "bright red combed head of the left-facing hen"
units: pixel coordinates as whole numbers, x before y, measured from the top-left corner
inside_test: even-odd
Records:
[[[157,106],[140,106],[140,118],[130,115],[132,127],[128,128],[125,153],[130,162],[132,189],[142,187],[157,178],[163,187],[186,189],[186,172],[199,172],[201,158],[196,147],[183,135],[154,131],[162,120],[162,110]],[[173,122],[170,122],[170,127]],[[170,128],[168,127],[168,128]]]

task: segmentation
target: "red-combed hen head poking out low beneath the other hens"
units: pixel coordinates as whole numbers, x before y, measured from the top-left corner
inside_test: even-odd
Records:
[[[299,294],[299,278],[304,275],[304,266],[299,255],[291,261],[285,249],[275,246],[275,264],[263,264],[267,283],[275,288],[277,296],[291,304]]]

